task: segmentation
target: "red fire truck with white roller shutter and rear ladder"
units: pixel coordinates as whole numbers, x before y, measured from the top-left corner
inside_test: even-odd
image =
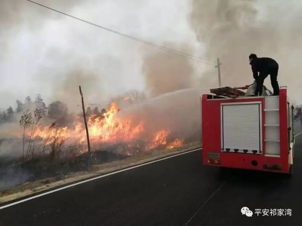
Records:
[[[239,89],[247,87],[202,95],[203,164],[291,173],[294,107],[287,88],[279,96],[244,96]]]

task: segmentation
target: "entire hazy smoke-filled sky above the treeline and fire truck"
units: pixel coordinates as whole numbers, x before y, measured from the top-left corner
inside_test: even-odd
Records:
[[[299,0],[37,2],[159,45],[210,60],[221,57],[223,86],[252,83],[251,52],[275,58],[280,65],[279,85],[288,86],[289,95],[302,102]],[[37,93],[47,104],[62,100],[76,106],[78,85],[89,103],[145,89],[146,55],[161,51],[26,0],[0,0],[0,48],[0,108],[14,107],[15,99],[23,101],[27,95],[34,99]],[[159,57],[165,58],[170,57]],[[149,67],[157,64],[153,59]],[[173,59],[170,65],[173,62],[182,67]],[[217,69],[191,60],[189,64],[201,78],[195,87],[217,87]],[[269,77],[265,85],[271,89]]]

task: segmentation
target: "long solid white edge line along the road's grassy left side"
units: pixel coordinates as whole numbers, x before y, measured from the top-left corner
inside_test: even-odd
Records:
[[[18,202],[12,202],[12,203],[10,203],[8,205],[0,206],[0,209],[7,208],[9,206],[14,206],[14,205],[19,204],[21,202],[26,202],[28,200],[35,199],[35,198],[38,198],[38,197],[43,196],[43,195],[48,195],[50,193],[53,193],[53,192],[56,192],[56,191],[59,191],[59,190],[63,190],[63,189],[69,188],[69,187],[73,187],[73,186],[76,186],[76,185],[79,185],[79,184],[83,184],[83,183],[86,183],[86,182],[89,182],[89,181],[92,181],[92,180],[96,180],[96,179],[99,179],[99,178],[102,178],[102,177],[107,177],[107,176],[110,176],[110,175],[113,175],[113,174],[117,174],[117,173],[120,173],[120,172],[123,172],[123,171],[126,171],[126,170],[134,169],[134,168],[137,168],[137,167],[140,167],[140,166],[144,166],[144,165],[148,165],[148,164],[151,164],[151,163],[154,163],[154,162],[159,162],[159,161],[162,161],[162,160],[165,160],[165,159],[170,159],[170,158],[173,158],[173,157],[178,156],[178,155],[184,155],[184,154],[187,154],[187,153],[190,153],[190,152],[194,152],[194,151],[198,151],[198,150],[201,150],[201,149],[202,148],[194,149],[194,150],[191,150],[191,151],[188,151],[188,152],[183,152],[183,153],[180,153],[180,154],[177,154],[177,155],[168,156],[168,157],[163,158],[163,159],[157,159],[157,160],[154,160],[152,162],[146,162],[146,163],[143,163],[143,164],[140,164],[140,165],[132,166],[132,167],[129,167],[129,168],[126,168],[126,169],[122,169],[122,170],[119,170],[119,171],[115,171],[115,172],[112,172],[112,173],[109,173],[109,174],[104,174],[104,175],[101,175],[101,176],[98,176],[98,177],[93,177],[93,178],[90,178],[88,180],[83,180],[83,181],[75,183],[75,184],[70,184],[70,185],[67,185],[65,187],[60,187],[60,188],[57,188],[57,189],[54,189],[54,190],[51,190],[51,191],[48,191],[48,192],[45,192],[45,193],[42,193],[42,194],[39,194],[39,195],[35,195],[35,196],[32,196],[32,197],[29,197],[27,199],[22,199],[22,200],[20,200]]]

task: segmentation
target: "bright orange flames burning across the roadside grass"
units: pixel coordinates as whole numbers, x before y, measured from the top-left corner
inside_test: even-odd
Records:
[[[101,143],[117,143],[132,142],[140,138],[145,131],[144,123],[135,124],[131,118],[119,118],[116,114],[120,111],[116,102],[112,102],[109,108],[102,115],[90,115],[87,119],[88,133],[92,149],[94,145]],[[55,137],[63,137],[71,139],[80,144],[86,143],[86,130],[83,118],[76,116],[73,126],[69,127],[43,127],[37,128],[34,134],[35,138],[41,138],[47,144],[51,143]],[[28,136],[30,136],[28,131]],[[161,129],[157,131],[151,141],[146,145],[146,150],[155,149],[160,145],[167,144],[167,137],[171,133],[169,129]],[[172,149],[182,146],[183,140],[176,139],[169,143],[166,149]],[[128,148],[139,149],[138,144],[129,144]],[[87,153],[88,149],[84,149],[81,153]],[[128,152],[130,155],[131,153]],[[128,155],[126,152],[126,155]]]

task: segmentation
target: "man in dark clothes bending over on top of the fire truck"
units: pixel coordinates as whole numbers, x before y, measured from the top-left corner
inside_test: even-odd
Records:
[[[274,96],[279,96],[279,85],[277,81],[278,63],[268,57],[258,58],[256,54],[249,55],[249,64],[252,65],[253,77],[257,82],[257,89],[255,96],[262,95],[263,82],[268,75],[271,75],[271,86],[274,89]],[[259,72],[259,76],[258,76]]]

